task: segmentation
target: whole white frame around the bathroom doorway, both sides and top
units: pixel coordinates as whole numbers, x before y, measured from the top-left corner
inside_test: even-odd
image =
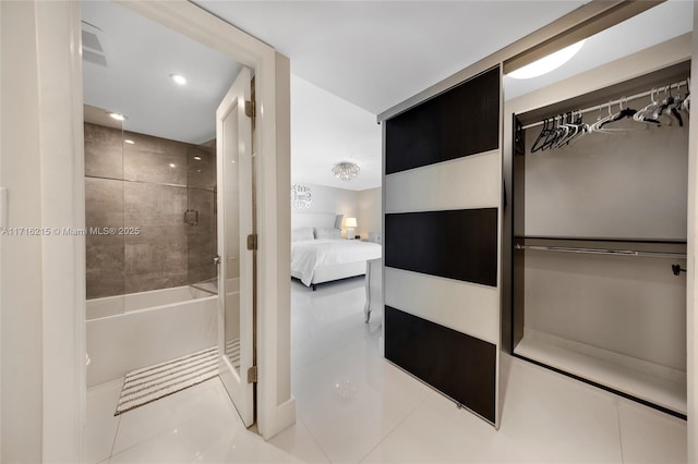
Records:
[[[254,70],[258,236],[257,429],[269,439],[296,422],[290,387],[290,63],[268,45],[188,1],[119,1],[125,8]],[[84,228],[83,80],[80,2],[25,4],[35,11],[41,217],[46,227]],[[4,74],[4,70],[3,70]],[[57,78],[56,76],[60,76]],[[62,118],[56,122],[56,114]],[[26,124],[32,125],[29,122]],[[4,154],[3,154],[4,156]],[[17,199],[19,200],[19,199]],[[44,373],[38,436],[47,462],[83,462],[86,422],[84,237],[43,237],[40,340]],[[4,279],[3,279],[4,281]],[[72,289],[70,295],[65,289]],[[3,307],[4,309],[4,307]],[[4,391],[3,391],[4,393]],[[67,427],[67,424],[71,426]],[[11,431],[11,430],[10,430]],[[28,445],[29,442],[27,442]],[[23,448],[23,447],[21,447]],[[22,450],[17,450],[22,452]]]

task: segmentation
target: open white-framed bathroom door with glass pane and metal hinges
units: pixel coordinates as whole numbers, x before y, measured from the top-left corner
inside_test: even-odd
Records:
[[[254,227],[251,72],[242,69],[216,111],[218,154],[218,374],[245,426],[254,423]],[[250,237],[252,237],[250,242]]]

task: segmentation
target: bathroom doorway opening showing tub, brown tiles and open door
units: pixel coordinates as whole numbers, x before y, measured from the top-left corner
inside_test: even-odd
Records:
[[[88,387],[125,376],[120,414],[219,374],[250,426],[251,72],[109,2],[83,42]]]

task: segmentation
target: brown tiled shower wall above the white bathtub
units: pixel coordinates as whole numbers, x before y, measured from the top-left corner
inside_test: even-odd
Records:
[[[87,298],[214,278],[215,198],[213,149],[85,123]]]

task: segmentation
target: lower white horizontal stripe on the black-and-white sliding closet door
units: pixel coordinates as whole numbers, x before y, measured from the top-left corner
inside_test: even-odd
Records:
[[[384,288],[388,306],[480,340],[498,343],[497,288],[394,268],[385,268]]]

